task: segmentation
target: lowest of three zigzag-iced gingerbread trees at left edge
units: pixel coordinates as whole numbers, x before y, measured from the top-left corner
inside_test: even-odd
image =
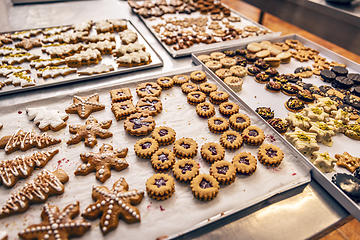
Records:
[[[54,172],[42,170],[32,181],[18,191],[12,193],[0,210],[0,219],[23,213],[32,203],[43,203],[50,196],[62,194],[69,176],[62,170]]]

